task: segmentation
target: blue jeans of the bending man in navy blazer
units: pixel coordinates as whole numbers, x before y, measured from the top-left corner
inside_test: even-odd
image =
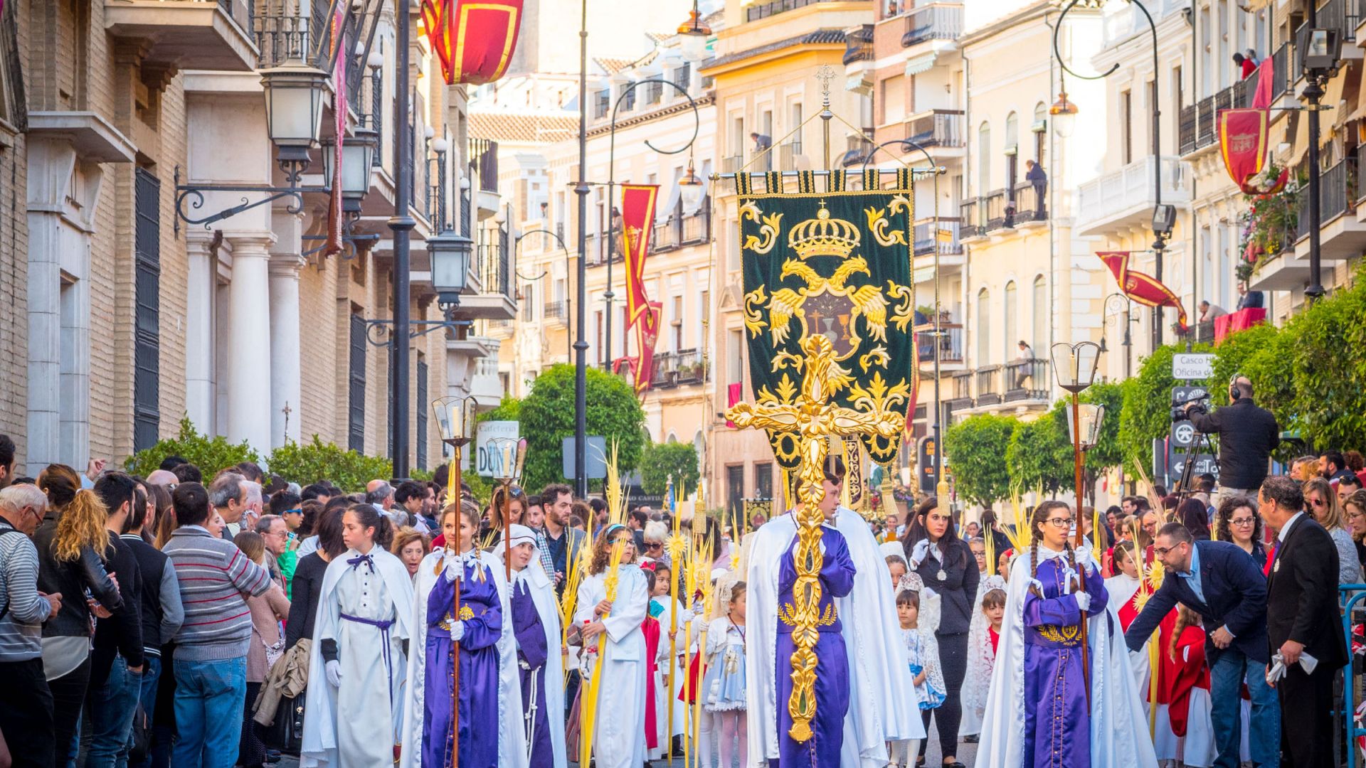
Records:
[[[1243,738],[1243,681],[1253,698],[1249,720],[1247,749],[1253,765],[1277,768],[1280,765],[1280,704],[1276,691],[1266,685],[1266,664],[1254,661],[1236,648],[1209,650],[1209,697],[1213,711],[1217,768],[1238,768]]]

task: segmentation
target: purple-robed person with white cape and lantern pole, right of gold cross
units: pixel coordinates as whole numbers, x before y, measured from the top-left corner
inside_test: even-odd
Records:
[[[1030,517],[1029,552],[1011,567],[978,765],[1157,764],[1115,608],[1090,543],[1072,548],[1072,525],[1063,502]]]

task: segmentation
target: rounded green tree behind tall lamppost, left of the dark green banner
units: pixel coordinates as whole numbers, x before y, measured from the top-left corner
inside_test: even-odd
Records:
[[[574,366],[555,365],[538,376],[522,400],[518,421],[527,439],[526,486],[563,481],[560,443],[574,436]],[[617,471],[637,467],[646,441],[645,411],[620,376],[587,369],[587,433],[607,437],[609,445],[616,440]]]

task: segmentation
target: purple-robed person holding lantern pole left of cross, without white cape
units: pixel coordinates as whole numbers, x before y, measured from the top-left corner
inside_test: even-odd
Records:
[[[463,511],[463,510],[462,510]],[[454,517],[454,515],[452,515]],[[460,514],[462,543],[474,541],[477,521]],[[459,571],[456,568],[459,567]],[[419,571],[421,573],[421,571]],[[456,581],[455,574],[462,578]],[[456,585],[459,620],[451,618]],[[447,768],[451,761],[452,649],[460,648],[460,768],[499,765],[499,637],[503,607],[493,571],[473,545],[451,562],[426,596],[426,666],[422,685],[421,768]]]

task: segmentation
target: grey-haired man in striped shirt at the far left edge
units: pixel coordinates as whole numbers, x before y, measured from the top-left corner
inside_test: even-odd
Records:
[[[0,435],[3,437],[3,435]],[[34,485],[0,491],[0,734],[18,767],[52,764],[52,693],[42,674],[42,622],[61,594],[38,592],[38,551],[29,540],[48,508]]]

